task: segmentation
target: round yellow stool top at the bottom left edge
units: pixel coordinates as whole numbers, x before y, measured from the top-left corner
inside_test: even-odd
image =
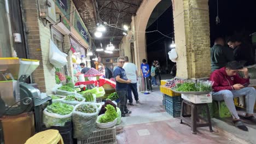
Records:
[[[62,137],[58,130],[49,129],[41,131],[36,135],[30,137],[25,144],[64,144]]]

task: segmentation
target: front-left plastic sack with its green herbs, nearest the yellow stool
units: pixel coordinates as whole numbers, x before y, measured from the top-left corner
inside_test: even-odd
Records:
[[[74,106],[61,102],[48,105],[43,111],[43,123],[45,127],[63,127],[66,122],[71,122],[73,109]]]

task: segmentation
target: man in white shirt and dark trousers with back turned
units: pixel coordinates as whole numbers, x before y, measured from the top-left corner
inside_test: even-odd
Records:
[[[129,105],[132,104],[132,93],[134,95],[134,98],[136,100],[136,104],[139,104],[138,101],[138,91],[137,91],[137,80],[138,80],[138,69],[135,64],[129,63],[129,58],[125,58],[125,64],[123,69],[125,69],[125,73],[127,76],[127,79],[131,80],[131,83],[128,84],[128,100],[129,100]],[[132,92],[132,93],[131,93]]]

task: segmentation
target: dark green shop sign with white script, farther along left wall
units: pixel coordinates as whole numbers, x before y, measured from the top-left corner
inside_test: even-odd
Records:
[[[77,32],[83,37],[83,39],[86,41],[87,44],[90,44],[90,35],[84,25],[83,20],[80,18],[79,14],[77,11],[75,11],[74,14],[74,28],[77,30]]]

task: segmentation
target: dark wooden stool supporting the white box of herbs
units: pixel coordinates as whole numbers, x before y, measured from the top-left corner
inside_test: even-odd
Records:
[[[189,105],[191,107],[191,114],[184,115],[184,104]],[[197,115],[197,106],[205,106],[206,107],[208,123],[197,123],[197,121],[196,121],[197,118],[203,119],[202,117]],[[186,122],[191,127],[191,131],[192,131],[193,134],[196,134],[196,128],[200,128],[200,127],[209,127],[210,132],[213,132],[210,110],[209,110],[209,107],[208,107],[207,103],[205,103],[205,104],[194,104],[194,103],[191,103],[188,100],[183,99],[181,108],[182,108],[181,109],[181,123],[183,123],[182,121]],[[191,117],[191,119],[186,119],[185,117]]]

